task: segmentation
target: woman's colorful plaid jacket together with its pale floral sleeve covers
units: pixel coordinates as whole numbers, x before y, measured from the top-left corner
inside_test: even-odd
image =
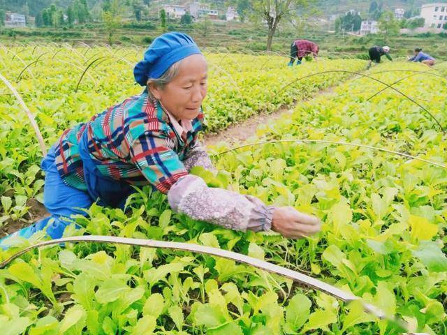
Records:
[[[87,131],[90,156],[105,176],[133,185],[152,184],[168,195],[174,211],[196,220],[235,230],[270,230],[274,206],[250,195],[210,188],[188,174],[193,166],[214,169],[198,144],[202,126],[202,112],[180,126],[144,91],[65,131],[54,148],[57,169],[68,186],[87,191],[79,148]]]

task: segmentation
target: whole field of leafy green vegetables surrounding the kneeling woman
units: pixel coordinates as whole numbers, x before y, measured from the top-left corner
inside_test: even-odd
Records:
[[[1,47],[0,73],[36,116],[45,147],[68,126],[139,94],[142,50]],[[362,297],[414,332],[447,334],[447,66],[360,60],[286,67],[280,56],[206,54],[207,132],[288,106],[239,148],[210,148],[210,186],[293,206],[323,221],[315,237],[235,232],[173,213],[143,188],[126,210],[93,205],[66,236],[101,234],[213,246],[301,271]],[[346,71],[346,72],[344,72]],[[288,85],[290,84],[290,85]],[[390,85],[391,87],[388,87]],[[328,89],[318,94],[321,89]],[[42,157],[0,88],[0,225],[34,221]],[[0,260],[31,241],[0,251]],[[0,269],[2,334],[400,334],[357,304],[210,255],[66,244]]]

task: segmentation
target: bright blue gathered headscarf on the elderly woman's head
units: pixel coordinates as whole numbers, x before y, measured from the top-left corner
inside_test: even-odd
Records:
[[[191,54],[201,54],[191,36],[172,32],[157,37],[147,48],[142,61],[133,68],[136,82],[141,86],[149,78],[159,78],[171,65]]]

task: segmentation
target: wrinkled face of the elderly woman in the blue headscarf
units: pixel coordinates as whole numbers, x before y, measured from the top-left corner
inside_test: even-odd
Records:
[[[182,60],[177,76],[163,89],[151,87],[154,97],[177,119],[195,119],[207,95],[207,62],[202,54]]]

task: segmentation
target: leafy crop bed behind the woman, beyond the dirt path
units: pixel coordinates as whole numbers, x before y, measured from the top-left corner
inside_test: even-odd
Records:
[[[69,45],[4,47],[0,45],[0,73],[13,84],[36,115],[45,146],[50,147],[68,127],[124,98],[140,94],[133,66],[141,49]],[[363,61],[321,61],[312,67],[289,69],[277,55],[206,54],[210,92],[205,101],[207,131],[219,131],[259,112],[309,98],[319,89],[349,77],[328,73],[309,77],[281,90],[288,82],[314,71],[360,70]],[[43,176],[36,135],[15,96],[0,85],[0,225],[19,219],[32,221],[29,199],[42,199]]]

